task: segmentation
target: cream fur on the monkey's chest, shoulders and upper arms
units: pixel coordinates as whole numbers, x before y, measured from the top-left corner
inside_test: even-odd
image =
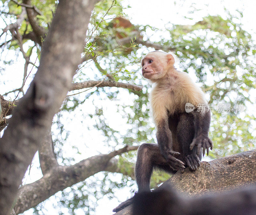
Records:
[[[185,72],[176,71],[156,83],[149,96],[153,118],[156,123],[166,120],[174,112],[185,112],[187,102],[197,107],[206,104],[204,93]]]

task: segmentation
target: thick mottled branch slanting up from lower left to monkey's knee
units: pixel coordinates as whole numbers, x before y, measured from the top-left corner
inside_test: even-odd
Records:
[[[35,207],[56,192],[84,181],[100,171],[114,171],[117,162],[111,158],[137,148],[138,146],[125,146],[109,154],[100,154],[84,159],[69,167],[60,165],[52,167],[41,179],[26,184],[19,189],[14,207],[15,213],[19,214]],[[116,169],[121,171],[122,167]]]

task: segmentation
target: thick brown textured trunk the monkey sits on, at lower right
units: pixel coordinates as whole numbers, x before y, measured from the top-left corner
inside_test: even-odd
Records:
[[[255,184],[255,164],[256,150],[242,152],[210,162],[204,161],[195,172],[190,171],[188,168],[185,169],[184,173],[178,171],[162,186],[170,184],[178,192],[189,196],[200,196],[210,192],[223,193],[227,190]],[[132,214],[131,208],[132,206],[130,205],[115,214]]]

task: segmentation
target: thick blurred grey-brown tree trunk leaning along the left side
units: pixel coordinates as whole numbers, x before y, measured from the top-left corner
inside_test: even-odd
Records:
[[[71,86],[81,61],[94,1],[63,0],[57,6],[40,65],[0,139],[0,211],[10,214],[21,180]]]

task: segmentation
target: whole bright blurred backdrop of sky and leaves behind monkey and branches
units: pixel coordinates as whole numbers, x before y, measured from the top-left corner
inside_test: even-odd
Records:
[[[37,22],[47,29],[57,1],[31,2],[42,12]],[[83,53],[90,57],[79,66],[73,82],[105,78],[143,85],[143,89],[93,87],[69,92],[75,95],[67,97],[52,123],[59,164],[72,165],[124,145],[156,143],[148,103],[151,85],[140,69],[141,57],[156,49],[174,52],[179,58],[177,69],[188,72],[206,93],[214,148],[204,160],[256,148],[255,8],[256,2],[249,0],[100,1],[92,13]],[[0,11],[3,29],[17,20],[21,7],[13,1],[0,1]],[[23,34],[29,28],[24,20],[19,31]],[[11,33],[1,35],[0,45],[0,94],[6,100],[15,99],[19,92],[15,89],[28,76],[20,98],[33,79],[42,47],[23,41],[24,52],[35,63],[28,65],[25,74],[24,55]],[[133,174],[136,152],[116,158],[122,167],[118,172],[94,174],[24,214],[112,214],[137,189]],[[41,177],[36,153],[23,184]],[[151,187],[169,177],[154,173]]]

